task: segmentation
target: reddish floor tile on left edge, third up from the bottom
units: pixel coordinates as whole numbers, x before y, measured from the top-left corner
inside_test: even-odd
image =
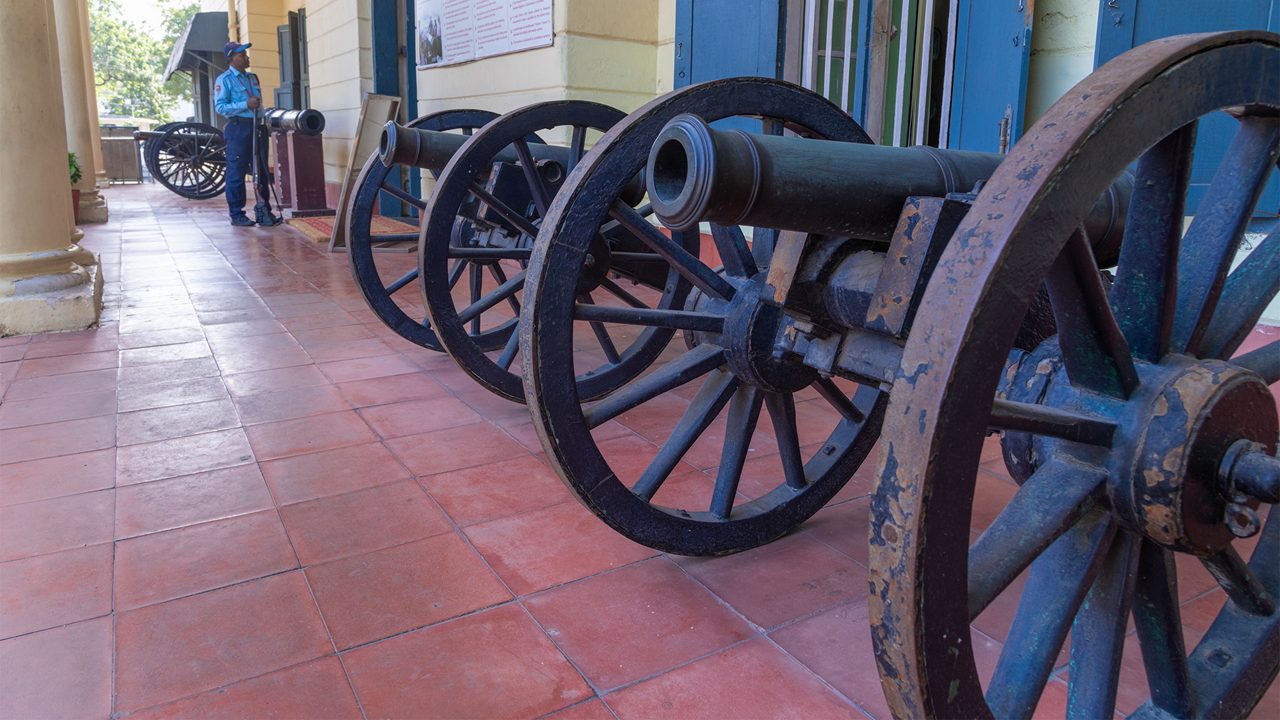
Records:
[[[0,507],[0,561],[111,541],[114,491]]]

